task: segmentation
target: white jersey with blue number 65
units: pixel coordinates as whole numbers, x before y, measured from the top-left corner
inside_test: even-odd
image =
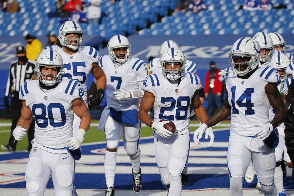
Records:
[[[83,100],[87,102],[88,75],[92,70],[92,63],[99,62],[98,51],[90,46],[82,46],[76,53],[69,55],[59,46],[48,46],[46,49],[53,49],[61,55],[64,63],[62,79],[73,78],[80,81],[84,90]]]

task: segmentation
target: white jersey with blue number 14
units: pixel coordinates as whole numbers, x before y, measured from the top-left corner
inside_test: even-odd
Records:
[[[268,83],[280,84],[280,74],[266,66],[258,68],[248,79],[227,73],[222,81],[225,81],[231,105],[231,131],[242,136],[254,136],[258,125],[269,123],[270,104],[264,88]]]

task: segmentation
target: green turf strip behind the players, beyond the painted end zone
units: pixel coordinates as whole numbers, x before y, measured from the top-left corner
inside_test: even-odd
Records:
[[[1,123],[11,123],[10,119],[1,119],[0,120],[0,125]],[[99,120],[92,120],[91,123],[99,123]],[[191,121],[193,124],[198,124],[199,121]],[[227,122],[223,122],[226,125],[225,126],[217,126],[217,128],[224,128],[228,127]],[[90,126],[90,129],[87,131],[87,134],[85,135],[83,143],[89,143],[89,142],[97,142],[97,141],[105,141],[105,135],[104,131],[98,131],[97,130],[98,126]],[[194,130],[196,130],[198,126],[190,126],[191,134],[193,134]],[[153,130],[150,127],[141,127],[141,137],[146,137],[146,136],[152,136],[153,135]],[[0,145],[8,144],[8,140],[10,137],[10,126],[0,126]],[[122,139],[122,137],[121,137]],[[25,138],[23,138],[21,141],[17,142],[16,150],[25,150],[28,147],[28,136],[26,135]],[[2,150],[0,149],[0,152]]]

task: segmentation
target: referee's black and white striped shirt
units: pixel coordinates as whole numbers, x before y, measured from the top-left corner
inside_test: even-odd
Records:
[[[19,64],[18,60],[10,65],[9,76],[6,85],[5,96],[9,96],[11,91],[19,92],[21,85],[32,79],[35,71],[35,63],[28,60],[24,65]]]

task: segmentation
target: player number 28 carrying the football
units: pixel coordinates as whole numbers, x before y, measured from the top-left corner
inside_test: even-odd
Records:
[[[190,148],[190,104],[201,122],[208,117],[198,95],[201,88],[199,77],[191,72],[185,73],[183,52],[169,48],[160,59],[163,74],[151,74],[144,81],[145,93],[138,117],[154,130],[155,158],[162,184],[169,196],[179,196],[182,192],[181,175]],[[148,115],[151,107],[154,108],[154,121]],[[162,119],[175,124],[173,134],[164,128],[168,121],[159,122]],[[208,137],[209,146],[212,146],[214,135],[211,128],[206,130],[205,138]]]

